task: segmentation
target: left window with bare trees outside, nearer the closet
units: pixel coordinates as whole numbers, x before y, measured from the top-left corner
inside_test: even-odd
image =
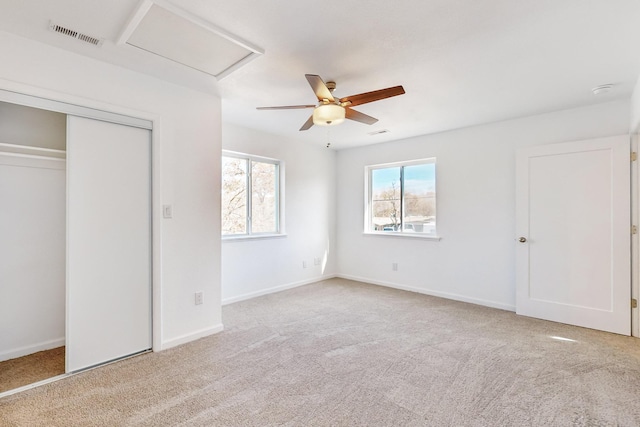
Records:
[[[280,161],[222,154],[222,235],[279,234]]]

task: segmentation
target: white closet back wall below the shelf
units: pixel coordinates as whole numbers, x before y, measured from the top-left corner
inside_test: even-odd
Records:
[[[0,361],[65,343],[65,161],[0,152]]]

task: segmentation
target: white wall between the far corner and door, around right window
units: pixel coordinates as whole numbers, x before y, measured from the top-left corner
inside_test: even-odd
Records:
[[[340,275],[513,310],[516,150],[627,134],[629,108],[614,101],[338,152]],[[365,165],[425,157],[437,158],[442,240],[363,235]]]

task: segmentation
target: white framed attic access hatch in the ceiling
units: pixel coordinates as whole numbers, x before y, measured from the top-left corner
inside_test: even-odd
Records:
[[[164,0],[143,0],[118,44],[137,47],[220,80],[264,53]]]

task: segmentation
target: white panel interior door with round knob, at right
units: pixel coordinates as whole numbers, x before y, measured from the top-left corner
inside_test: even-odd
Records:
[[[521,150],[516,190],[516,312],[629,335],[628,136]]]

